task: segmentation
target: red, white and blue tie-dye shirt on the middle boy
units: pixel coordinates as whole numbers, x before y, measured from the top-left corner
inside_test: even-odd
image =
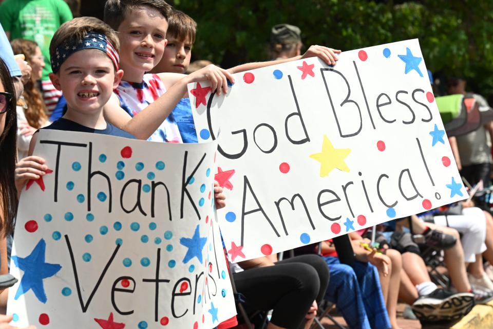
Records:
[[[166,88],[163,82],[155,74],[145,74],[142,83],[121,81],[115,89],[115,94],[120,99],[120,106],[132,117],[165,92]],[[148,140],[170,143],[183,142],[173,113],[168,115]]]

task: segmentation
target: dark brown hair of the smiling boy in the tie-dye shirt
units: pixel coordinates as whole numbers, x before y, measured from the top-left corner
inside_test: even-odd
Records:
[[[104,4],[104,22],[118,31],[128,11],[144,6],[157,9],[166,20],[173,12],[164,0],[108,0]]]

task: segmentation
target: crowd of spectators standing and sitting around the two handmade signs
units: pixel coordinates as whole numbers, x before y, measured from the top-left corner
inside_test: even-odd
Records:
[[[34,12],[42,12],[42,19]],[[18,197],[29,179],[48,169],[32,155],[38,130],[197,142],[191,105],[183,97],[188,83],[207,81],[218,95],[226,94],[236,72],[314,56],[335,65],[340,52],[311,46],[302,53],[300,29],[280,24],[271,31],[272,61],[230,69],[191,63],[197,24],[163,0],[107,0],[104,22],[72,19],[63,0],[4,0],[0,24],[0,274],[8,272]],[[470,94],[462,79],[450,79],[448,92]],[[467,184],[489,186],[492,138],[493,122],[450,138]],[[224,207],[222,188],[216,185],[214,192],[216,207]],[[350,328],[395,329],[398,301],[411,306],[407,316],[426,325],[453,323],[493,299],[484,270],[493,264],[493,217],[471,198],[347,239],[349,260],[329,240],[282,260],[273,255],[232,264],[245,314],[271,312],[269,329],[309,328],[319,305],[330,303]],[[443,262],[445,285],[430,277],[424,258],[429,250]],[[7,294],[0,294],[4,307]],[[1,316],[0,328],[13,328],[11,319]],[[244,320],[234,317],[218,328]]]

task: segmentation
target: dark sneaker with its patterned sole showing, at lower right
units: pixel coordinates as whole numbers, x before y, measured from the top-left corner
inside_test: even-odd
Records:
[[[418,298],[412,304],[412,312],[422,322],[456,321],[470,312],[475,295],[451,293],[437,288],[429,295]]]

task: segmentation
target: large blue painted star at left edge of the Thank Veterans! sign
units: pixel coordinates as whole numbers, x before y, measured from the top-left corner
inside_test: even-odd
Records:
[[[25,258],[12,256],[15,266],[24,271],[21,284],[15,294],[16,300],[32,289],[36,298],[40,302],[46,303],[47,298],[43,286],[43,279],[54,276],[62,266],[59,264],[45,263],[45,249],[46,242],[41,239],[29,256]]]

